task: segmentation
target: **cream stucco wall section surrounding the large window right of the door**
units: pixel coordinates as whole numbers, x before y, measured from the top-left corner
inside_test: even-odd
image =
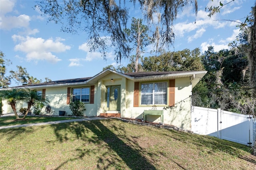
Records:
[[[144,110],[152,109],[150,107],[133,107],[133,90],[134,81],[127,80],[126,86],[126,107],[125,113],[121,113],[121,117],[132,117],[142,119]],[[191,97],[192,86],[190,85],[190,78],[175,79],[175,107],[164,110],[164,123],[174,125],[187,130],[191,129]],[[180,103],[179,103],[180,102]],[[167,106],[167,105],[166,105]],[[156,107],[162,110],[163,106]],[[160,122],[159,116],[148,116],[148,121]]]

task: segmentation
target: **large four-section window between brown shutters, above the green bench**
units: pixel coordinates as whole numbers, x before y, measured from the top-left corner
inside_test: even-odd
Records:
[[[142,83],[141,105],[166,105],[167,82]]]

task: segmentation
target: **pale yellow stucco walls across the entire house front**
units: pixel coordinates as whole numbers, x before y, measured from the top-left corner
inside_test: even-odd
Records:
[[[114,79],[114,81],[110,81]],[[167,82],[169,80],[166,80]],[[156,81],[158,82],[158,81]],[[125,77],[110,73],[104,78],[100,79],[94,86],[94,104],[85,103],[86,111],[84,116],[93,117],[99,116],[100,113],[106,113],[106,86],[120,85],[121,87],[121,117],[142,119],[144,110],[152,109],[152,106],[134,107],[134,81],[126,79]],[[70,87],[70,86],[69,86]],[[76,87],[90,87],[90,85],[82,85]],[[75,87],[75,88],[76,88]],[[175,107],[164,111],[164,123],[174,125],[176,127],[190,130],[191,124],[191,97],[192,86],[190,85],[190,78],[178,78],[175,80]],[[46,97],[49,99],[49,105],[52,108],[53,115],[58,115],[58,111],[65,109],[66,115],[72,115],[67,100],[67,87],[46,88]],[[166,105],[167,106],[167,105]],[[22,107],[22,104],[17,105],[17,110]],[[26,107],[23,104],[23,107]],[[158,106],[157,109],[162,110],[164,105]],[[4,113],[12,113],[12,109],[4,103]],[[45,114],[45,107],[42,109]],[[148,121],[160,122],[158,116],[148,116]]]

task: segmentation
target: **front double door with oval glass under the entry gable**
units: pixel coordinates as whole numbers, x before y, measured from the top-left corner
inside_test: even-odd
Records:
[[[107,86],[106,111],[120,111],[120,85]]]

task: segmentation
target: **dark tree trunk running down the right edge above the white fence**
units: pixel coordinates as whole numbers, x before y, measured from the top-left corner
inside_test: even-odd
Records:
[[[250,37],[250,53],[248,56],[250,67],[250,86],[252,88],[252,95],[256,97],[256,4],[252,10],[254,16],[254,23],[251,27]]]

